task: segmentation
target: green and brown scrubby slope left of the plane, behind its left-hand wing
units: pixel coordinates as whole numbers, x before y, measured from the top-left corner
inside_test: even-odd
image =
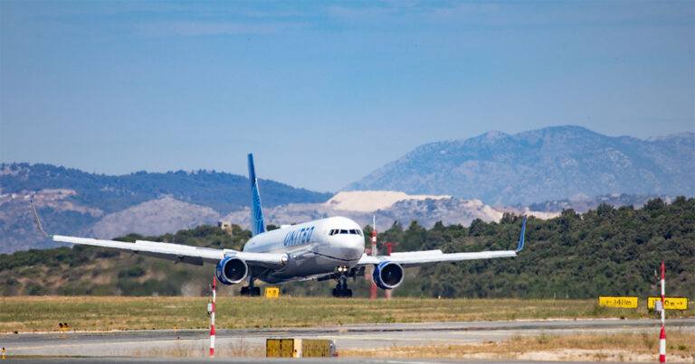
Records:
[[[231,234],[200,226],[160,237],[137,239],[195,246],[241,249],[251,232],[234,226]],[[0,294],[9,295],[201,295],[209,292],[214,266],[175,265],[98,247],[32,249],[0,255]]]

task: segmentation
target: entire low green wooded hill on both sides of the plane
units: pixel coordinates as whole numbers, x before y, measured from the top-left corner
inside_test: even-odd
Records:
[[[476,219],[468,228],[417,222],[395,225],[379,241],[398,243],[395,251],[441,248],[445,252],[508,249],[519,239],[521,217],[500,223]],[[366,237],[370,233],[366,228]],[[240,248],[250,238],[213,227],[148,237],[209,247]],[[125,240],[133,241],[137,236]],[[556,219],[529,218],[526,247],[516,258],[444,263],[406,270],[396,296],[595,298],[597,295],[659,294],[656,269],[666,264],[667,294],[695,297],[695,199],[666,204],[651,200],[642,209],[603,204]],[[165,260],[91,248],[55,248],[0,255],[0,294],[201,294],[214,266],[174,265]],[[332,282],[282,286],[286,294],[329,295]],[[350,281],[358,296],[368,283]],[[224,287],[230,294],[235,287]]]

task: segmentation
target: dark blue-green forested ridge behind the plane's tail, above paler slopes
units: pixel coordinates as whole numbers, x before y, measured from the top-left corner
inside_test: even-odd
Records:
[[[263,205],[314,203],[327,201],[331,193],[298,189],[290,185],[260,180]],[[214,171],[137,172],[124,175],[86,173],[52,164],[0,164],[2,193],[23,193],[44,189],[68,189],[76,193],[76,203],[103,210],[124,210],[162,195],[227,213],[249,206],[249,179],[245,176]]]

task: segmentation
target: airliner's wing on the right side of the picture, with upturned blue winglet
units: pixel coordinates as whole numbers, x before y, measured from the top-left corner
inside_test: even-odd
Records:
[[[470,253],[443,253],[442,250],[423,250],[410,251],[404,253],[393,253],[390,256],[367,256],[363,254],[357,262],[357,266],[378,265],[382,262],[394,262],[401,266],[426,266],[441,262],[458,262],[461,260],[490,259],[495,257],[517,257],[517,253],[524,247],[524,232],[526,230],[526,219],[521,225],[521,236],[519,237],[519,247],[515,250],[490,250]]]

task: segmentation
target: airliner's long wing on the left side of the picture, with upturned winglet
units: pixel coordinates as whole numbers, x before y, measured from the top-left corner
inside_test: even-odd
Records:
[[[33,209],[33,202],[32,202]],[[83,244],[94,247],[109,247],[129,251],[148,257],[159,257],[174,260],[180,263],[202,266],[203,263],[217,263],[225,257],[239,257],[249,266],[277,267],[283,265],[288,257],[282,253],[249,253],[232,249],[215,249],[212,247],[193,247],[182,244],[160,243],[156,241],[137,240],[135,243],[115,240],[102,240],[98,238],[77,238],[62,235],[46,234],[43,231],[36,210],[33,209],[36,225],[41,233],[53,241],[64,243]]]

